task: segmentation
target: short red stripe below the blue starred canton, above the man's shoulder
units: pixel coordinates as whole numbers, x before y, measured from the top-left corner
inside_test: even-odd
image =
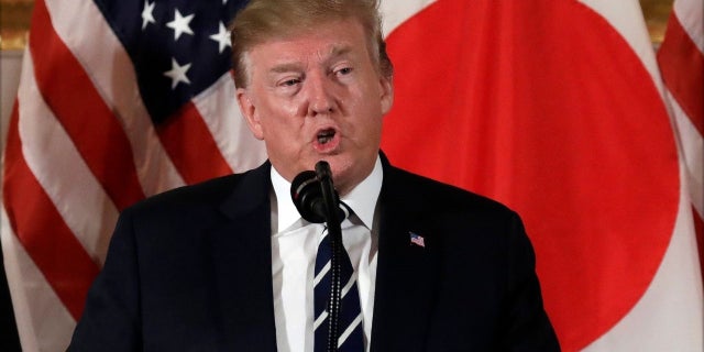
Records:
[[[156,132],[186,184],[232,174],[193,102],[186,103]]]

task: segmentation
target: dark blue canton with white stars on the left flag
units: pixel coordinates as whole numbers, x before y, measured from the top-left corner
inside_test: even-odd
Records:
[[[167,120],[230,69],[230,38],[226,29],[246,3],[95,1],[132,59],[140,94],[155,124]]]

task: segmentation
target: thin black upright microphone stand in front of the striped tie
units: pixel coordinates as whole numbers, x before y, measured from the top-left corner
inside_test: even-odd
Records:
[[[332,186],[332,172],[330,165],[326,161],[316,164],[316,175],[320,182],[322,199],[326,206],[326,222],[328,226],[328,235],[330,237],[330,245],[332,246],[332,255],[330,258],[331,272],[331,290],[330,300],[328,300],[328,321],[330,329],[328,331],[328,352],[338,351],[339,334],[339,316],[342,300],[342,283],[340,282],[342,256],[342,229],[340,227],[341,219],[338,216],[339,202],[334,187]]]

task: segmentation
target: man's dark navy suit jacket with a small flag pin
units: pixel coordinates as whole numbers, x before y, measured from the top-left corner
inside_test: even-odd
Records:
[[[558,351],[518,216],[383,165],[372,351]],[[69,351],[276,351],[270,168],[123,211]]]

